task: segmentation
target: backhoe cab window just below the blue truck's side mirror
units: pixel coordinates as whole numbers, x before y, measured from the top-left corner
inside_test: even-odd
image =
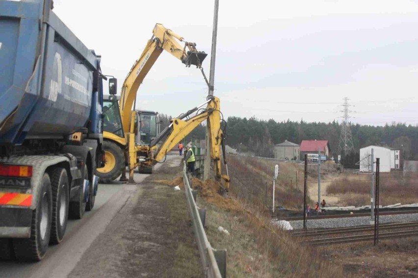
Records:
[[[103,130],[125,137],[118,101],[103,101]]]

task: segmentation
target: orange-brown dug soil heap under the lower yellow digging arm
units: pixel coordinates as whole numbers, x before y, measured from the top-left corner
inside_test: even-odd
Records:
[[[192,186],[194,189],[199,190],[199,196],[206,202],[210,202],[217,207],[227,210],[241,210],[241,205],[234,199],[228,197],[222,197],[219,195],[219,189],[221,184],[212,179],[208,179],[202,182],[200,179],[193,177]]]

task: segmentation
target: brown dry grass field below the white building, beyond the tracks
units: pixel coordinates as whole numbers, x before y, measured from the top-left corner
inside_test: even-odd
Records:
[[[418,174],[401,172],[380,174],[380,204],[418,202]],[[328,194],[344,195],[341,205],[366,205],[370,203],[369,176],[347,174],[327,188]]]

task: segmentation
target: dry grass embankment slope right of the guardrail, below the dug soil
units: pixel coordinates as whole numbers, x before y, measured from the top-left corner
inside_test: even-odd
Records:
[[[346,277],[341,267],[332,266],[323,252],[302,245],[286,231],[270,223],[260,207],[241,202],[241,210],[225,211],[198,200],[209,209],[207,235],[212,247],[227,248],[228,277]],[[226,228],[230,235],[217,230]]]

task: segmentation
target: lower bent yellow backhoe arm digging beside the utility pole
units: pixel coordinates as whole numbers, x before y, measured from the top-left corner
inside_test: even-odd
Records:
[[[196,116],[183,120],[190,114],[199,111],[198,109],[207,104],[206,109],[202,109]],[[152,166],[164,159],[167,152],[170,152],[175,146],[179,144],[185,136],[187,136],[193,129],[195,129],[200,123],[208,120],[209,127],[209,142],[210,142],[210,157],[214,160],[215,173],[217,178],[222,178],[225,181],[225,188],[229,188],[230,178],[228,177],[228,167],[225,157],[225,145],[224,145],[224,130],[221,126],[221,112],[220,112],[220,101],[216,97],[210,97],[208,101],[200,106],[197,106],[187,113],[180,115],[171,121],[171,124],[165,128],[152,142],[149,159],[146,159],[140,164],[146,166]],[[161,143],[162,142],[162,143]],[[161,146],[157,149],[154,154],[151,150],[161,143]],[[227,169],[227,175],[221,174],[221,147],[223,147],[224,163]]]

